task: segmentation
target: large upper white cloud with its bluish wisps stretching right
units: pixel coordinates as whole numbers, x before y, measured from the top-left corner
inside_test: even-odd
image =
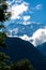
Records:
[[[12,12],[11,20],[14,22],[16,19],[18,24],[22,24],[22,25],[35,24],[35,22],[31,22],[32,19],[31,15],[28,14],[34,10],[41,10],[42,4],[39,3],[31,10],[30,3],[24,0],[12,0],[9,3],[11,8],[7,11]],[[24,13],[26,13],[26,15],[24,15]]]

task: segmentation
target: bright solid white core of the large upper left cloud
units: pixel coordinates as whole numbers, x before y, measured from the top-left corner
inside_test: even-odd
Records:
[[[11,11],[12,12],[12,19],[16,19],[19,15],[21,15],[24,12],[28,10],[28,4],[26,2],[22,2],[17,5],[12,5]]]

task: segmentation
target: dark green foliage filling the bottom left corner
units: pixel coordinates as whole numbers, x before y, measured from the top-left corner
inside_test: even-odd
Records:
[[[0,70],[10,70],[10,66],[7,65],[10,57],[4,53],[0,53]]]

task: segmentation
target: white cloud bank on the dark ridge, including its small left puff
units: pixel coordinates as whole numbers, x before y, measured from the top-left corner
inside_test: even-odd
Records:
[[[40,28],[32,34],[32,37],[28,37],[27,34],[24,34],[24,37],[20,38],[22,40],[29,41],[34,46],[37,46],[46,42],[46,29]]]

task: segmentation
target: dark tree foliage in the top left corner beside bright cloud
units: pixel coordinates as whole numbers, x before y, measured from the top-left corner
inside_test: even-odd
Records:
[[[0,0],[0,22],[9,19],[11,13],[7,12],[7,6],[6,0]]]

